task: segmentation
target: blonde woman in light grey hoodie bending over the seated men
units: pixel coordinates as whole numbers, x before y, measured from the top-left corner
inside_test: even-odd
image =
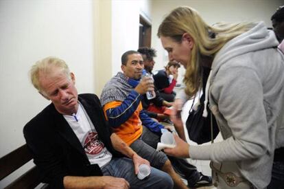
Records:
[[[169,60],[187,69],[175,115],[202,87],[202,67],[209,67],[205,103],[224,138],[208,146],[189,146],[176,136],[176,148],[165,153],[210,159],[218,188],[268,186],[274,149],[284,146],[284,57],[274,32],[263,22],[210,26],[193,8],[179,7],[165,17],[158,37]],[[182,127],[178,116],[172,121]]]

